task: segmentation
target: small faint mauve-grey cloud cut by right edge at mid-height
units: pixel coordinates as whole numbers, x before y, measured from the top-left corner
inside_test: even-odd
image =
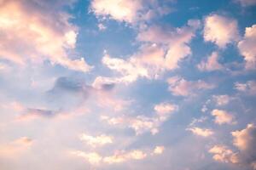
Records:
[[[235,89],[249,95],[256,94],[256,81],[235,82]]]

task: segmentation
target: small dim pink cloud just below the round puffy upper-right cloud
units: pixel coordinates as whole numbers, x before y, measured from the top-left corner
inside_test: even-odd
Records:
[[[197,68],[200,71],[218,71],[223,70],[223,65],[218,63],[218,53],[212,52],[212,54],[208,57],[207,60],[202,60],[199,65],[197,65]]]

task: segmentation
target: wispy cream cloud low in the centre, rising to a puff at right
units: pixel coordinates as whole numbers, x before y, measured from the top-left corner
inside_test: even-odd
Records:
[[[155,109],[156,108],[156,109]],[[173,104],[160,104],[155,105],[154,110],[156,114],[154,116],[118,116],[108,117],[102,116],[102,121],[108,122],[110,125],[119,125],[124,127],[131,127],[137,135],[145,132],[150,132],[153,135],[159,132],[159,127],[163,122],[171,116],[174,111],[178,110],[177,105]],[[164,111],[165,110],[165,111]]]

